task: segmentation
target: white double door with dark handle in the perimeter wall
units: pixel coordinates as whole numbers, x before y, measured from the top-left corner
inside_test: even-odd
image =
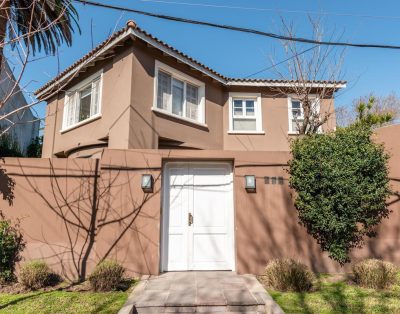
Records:
[[[234,270],[229,163],[166,164],[162,271]]]

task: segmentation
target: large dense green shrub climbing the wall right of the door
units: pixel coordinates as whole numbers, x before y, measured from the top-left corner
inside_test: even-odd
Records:
[[[341,265],[390,212],[389,156],[371,135],[370,125],[357,123],[291,143],[289,183],[300,223]]]

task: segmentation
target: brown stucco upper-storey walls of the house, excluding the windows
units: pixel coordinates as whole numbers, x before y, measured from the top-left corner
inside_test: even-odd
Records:
[[[74,73],[63,86],[63,90],[68,90],[96,71],[102,71],[101,114],[96,119],[63,131],[65,93],[39,93],[48,102],[43,157],[98,157],[104,148],[288,151],[288,138],[292,136],[288,117],[291,91],[288,87],[287,94],[277,92],[277,87],[282,88],[285,82],[230,83],[187,56],[174,56],[177,52],[171,47],[169,52],[167,48],[150,45],[146,42],[150,35],[143,36],[121,40],[109,57],[93,59],[90,67]],[[204,84],[204,123],[154,110],[157,62]],[[230,93],[260,95],[261,132],[229,132]],[[320,110],[332,112],[323,127],[325,130],[335,127],[331,96],[320,100]]]

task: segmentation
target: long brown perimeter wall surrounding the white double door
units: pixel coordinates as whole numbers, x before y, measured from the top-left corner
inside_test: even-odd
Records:
[[[392,187],[400,190],[400,148],[393,132],[378,130],[389,153]],[[390,144],[393,143],[393,144]],[[11,205],[0,201],[7,217],[20,219],[27,241],[24,259],[44,259],[75,279],[103,258],[117,259],[130,274],[158,274],[160,260],[161,170],[168,160],[229,160],[234,165],[236,267],[260,274],[267,261],[293,257],[319,272],[341,272],[297,222],[285,152],[105,150],[102,159],[6,158],[0,189],[15,181]],[[97,170],[96,170],[97,169]],[[143,173],[155,178],[154,193],[140,188]],[[244,189],[245,174],[257,177],[257,193]],[[283,185],[264,184],[264,176],[282,176]],[[97,188],[94,188],[97,186]],[[353,261],[378,257],[400,265],[399,194],[378,237],[355,250]]]

